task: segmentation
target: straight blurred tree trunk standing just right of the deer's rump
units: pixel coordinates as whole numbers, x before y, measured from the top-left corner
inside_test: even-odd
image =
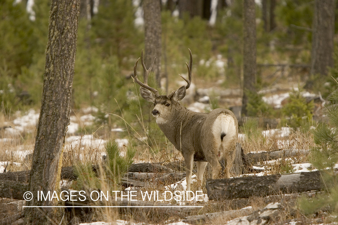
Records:
[[[247,115],[247,91],[256,91],[256,10],[254,0],[244,0],[243,100],[242,114]]]

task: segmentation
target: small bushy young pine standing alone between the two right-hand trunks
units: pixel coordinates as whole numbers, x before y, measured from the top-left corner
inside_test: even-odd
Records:
[[[282,122],[287,123],[295,130],[299,128],[301,131],[307,132],[310,129],[313,109],[313,101],[307,103],[305,97],[301,94],[301,90],[293,90],[290,92],[288,103],[282,108],[282,113],[289,119]]]

